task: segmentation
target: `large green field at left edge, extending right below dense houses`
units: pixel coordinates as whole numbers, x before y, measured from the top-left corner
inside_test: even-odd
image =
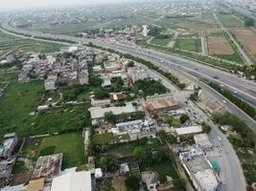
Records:
[[[21,137],[63,132],[90,124],[88,104],[63,105],[35,113],[43,95],[43,81],[20,83],[16,76],[0,74],[1,81],[11,81],[0,97],[0,137],[11,132]]]

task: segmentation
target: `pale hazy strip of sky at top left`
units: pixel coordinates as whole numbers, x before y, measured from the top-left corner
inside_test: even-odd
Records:
[[[55,6],[94,5],[100,3],[116,3],[122,1],[128,0],[0,0],[0,10],[6,11],[24,8],[27,9]]]

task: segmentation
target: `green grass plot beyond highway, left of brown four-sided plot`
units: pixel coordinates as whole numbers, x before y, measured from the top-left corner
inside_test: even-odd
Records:
[[[199,39],[177,39],[175,47],[181,50],[196,53],[199,53],[201,51]]]

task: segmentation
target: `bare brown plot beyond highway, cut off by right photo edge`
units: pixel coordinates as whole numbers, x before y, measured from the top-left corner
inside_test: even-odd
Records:
[[[256,33],[250,30],[235,30],[234,34],[245,51],[256,59]]]

